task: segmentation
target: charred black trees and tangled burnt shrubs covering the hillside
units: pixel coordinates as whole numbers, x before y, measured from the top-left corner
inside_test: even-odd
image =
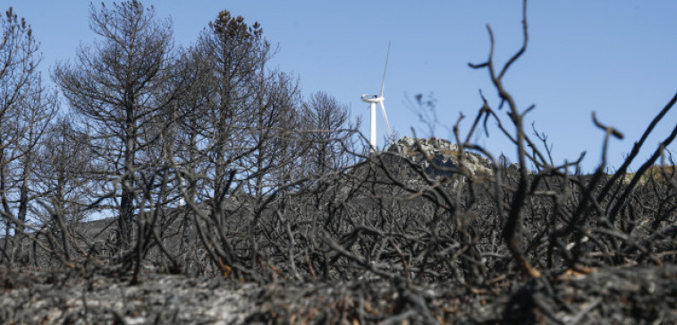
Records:
[[[92,5],[90,26],[97,42],[54,68],[59,109],[30,26],[11,8],[0,19],[5,292],[173,273],[258,284],[241,321],[677,321],[677,169],[666,150],[677,127],[639,161],[677,95],[614,173],[606,146],[623,135],[594,114],[604,149],[594,172],[580,173],[582,155],[554,162],[546,135],[524,124],[534,107],[504,83],[527,49],[526,1],[520,49],[497,63],[487,26],[488,57],[470,64],[496,97],[481,95],[449,141],[404,138],[376,154],[346,107],[302,98],[270,66],[275,47],[258,22],[218,13],[186,48],[137,1]],[[470,141],[487,124],[512,142],[514,164]],[[131,311],[82,308],[33,316]],[[170,309],[148,317],[190,321]]]

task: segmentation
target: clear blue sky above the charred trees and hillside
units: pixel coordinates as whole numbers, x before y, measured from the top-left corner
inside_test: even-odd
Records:
[[[109,3],[106,1],[106,3]],[[173,21],[176,44],[189,46],[228,9],[246,21],[259,21],[264,35],[280,51],[275,64],[300,78],[304,95],[324,90],[362,116],[368,134],[363,93],[380,88],[388,41],[392,50],[385,81],[385,107],[400,135],[419,135],[427,128],[411,113],[406,98],[433,94],[441,124],[452,125],[460,112],[467,130],[481,101],[481,89],[497,106],[487,71],[468,67],[481,63],[489,47],[485,25],[495,31],[495,58],[503,63],[520,47],[520,1],[143,1],[157,15]],[[98,4],[98,3],[96,3]],[[74,56],[90,44],[89,2],[62,0],[3,1],[30,23],[43,52],[42,70]],[[593,126],[591,112],[625,134],[612,141],[610,164],[619,166],[632,142],[677,92],[677,2],[663,1],[531,1],[530,43],[525,56],[505,78],[505,86],[521,109],[554,144],[556,161],[588,155],[591,171],[600,158],[603,133]],[[48,79],[48,78],[47,78]],[[408,95],[407,95],[408,94]],[[501,114],[504,114],[502,111]],[[379,115],[380,117],[380,115]],[[530,123],[530,122],[529,122]],[[677,108],[647,141],[647,158],[677,124]],[[379,134],[385,136],[383,121]],[[442,127],[436,136],[448,138]],[[496,154],[514,149],[494,131],[479,144]],[[380,141],[383,143],[383,141]],[[673,152],[677,146],[671,148]],[[637,167],[638,165],[635,165]]]

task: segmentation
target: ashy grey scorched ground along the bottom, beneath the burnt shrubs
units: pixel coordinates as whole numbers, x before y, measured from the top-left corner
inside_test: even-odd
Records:
[[[144,273],[1,269],[0,322],[148,323],[677,323],[677,267],[544,274],[490,287],[390,283],[237,283]]]

